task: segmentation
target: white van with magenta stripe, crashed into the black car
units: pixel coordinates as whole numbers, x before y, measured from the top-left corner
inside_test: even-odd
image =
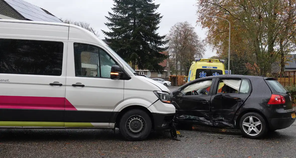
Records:
[[[119,128],[143,140],[170,128],[169,94],[88,30],[0,19],[0,128]]]

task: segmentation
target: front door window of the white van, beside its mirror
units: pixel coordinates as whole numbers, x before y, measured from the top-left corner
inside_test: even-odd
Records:
[[[103,49],[83,43],[74,43],[75,76],[110,78],[116,62]]]

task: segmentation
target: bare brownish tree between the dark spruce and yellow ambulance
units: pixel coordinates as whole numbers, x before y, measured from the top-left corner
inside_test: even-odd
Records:
[[[173,65],[176,66],[176,85],[178,84],[178,64],[182,75],[182,67],[191,65],[194,58],[205,54],[204,42],[200,40],[194,27],[186,22],[176,23],[167,35],[168,50]],[[187,69],[185,69],[187,71]],[[186,72],[187,73],[187,72]]]

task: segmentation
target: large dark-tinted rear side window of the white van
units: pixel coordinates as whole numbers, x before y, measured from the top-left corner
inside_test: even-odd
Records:
[[[0,73],[62,75],[63,42],[0,39]]]

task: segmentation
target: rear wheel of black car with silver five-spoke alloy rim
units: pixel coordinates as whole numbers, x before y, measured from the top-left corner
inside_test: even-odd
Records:
[[[256,112],[244,114],[239,121],[239,127],[243,136],[253,139],[261,138],[268,131],[266,121]]]

